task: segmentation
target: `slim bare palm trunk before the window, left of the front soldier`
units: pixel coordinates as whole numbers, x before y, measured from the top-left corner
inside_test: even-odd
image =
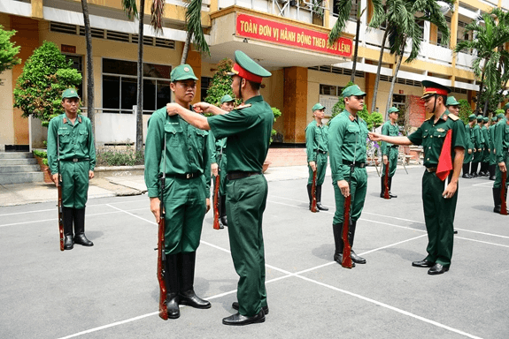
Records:
[[[143,152],[143,17],[145,0],[140,0],[138,29],[138,100],[136,101],[136,152]]]

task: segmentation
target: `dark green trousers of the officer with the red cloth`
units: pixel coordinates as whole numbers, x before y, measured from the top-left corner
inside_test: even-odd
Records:
[[[422,176],[422,204],[428,231],[426,260],[441,264],[443,267],[449,267],[451,266],[454,242],[453,223],[459,189],[451,199],[443,198],[444,189],[445,182],[436,177],[435,173],[430,173],[428,170],[424,172],[424,176]]]

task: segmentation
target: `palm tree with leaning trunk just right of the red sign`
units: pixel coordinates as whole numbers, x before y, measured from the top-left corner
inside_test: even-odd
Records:
[[[453,4],[454,0],[444,1],[447,4]],[[403,61],[405,55],[405,48],[408,41],[412,41],[412,49],[406,57],[405,63],[411,63],[419,56],[420,51],[420,38],[422,37],[422,30],[416,20],[415,14],[421,13],[421,20],[428,21],[434,24],[438,31],[442,33],[443,41],[449,40],[449,27],[440,11],[440,5],[435,0],[388,0],[387,6],[387,21],[389,30],[389,50],[390,54],[397,56],[397,65],[394,72],[392,82],[389,89],[389,100],[387,101],[387,112],[392,105],[392,93],[394,92],[394,85],[396,84],[397,72]]]

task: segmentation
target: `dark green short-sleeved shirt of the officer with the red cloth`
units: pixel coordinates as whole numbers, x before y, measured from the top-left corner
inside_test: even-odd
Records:
[[[463,122],[461,120],[452,120],[449,117],[450,114],[449,110],[446,109],[436,123],[434,123],[435,117],[431,117],[421,124],[417,131],[408,136],[413,145],[422,145],[424,150],[424,166],[426,167],[436,167],[438,164],[443,140],[451,129],[451,158],[454,158],[454,147],[465,148],[465,128]]]

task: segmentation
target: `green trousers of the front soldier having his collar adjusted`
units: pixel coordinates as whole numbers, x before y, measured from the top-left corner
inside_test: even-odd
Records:
[[[195,252],[200,245],[208,197],[204,176],[166,177],[165,186],[165,252]]]

